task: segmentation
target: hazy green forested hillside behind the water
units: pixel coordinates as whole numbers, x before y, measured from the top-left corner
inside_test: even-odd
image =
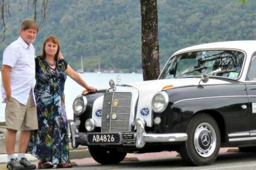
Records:
[[[21,21],[33,17],[26,0],[12,0],[4,48],[19,35]],[[38,7],[39,8],[39,7]],[[199,43],[256,39],[256,1],[158,0],[160,63],[176,50]],[[52,0],[34,43],[40,54],[48,35],[61,40],[61,52],[74,69],[141,69],[139,0]],[[40,13],[40,11],[38,11]],[[256,48],[256,47],[255,47]]]

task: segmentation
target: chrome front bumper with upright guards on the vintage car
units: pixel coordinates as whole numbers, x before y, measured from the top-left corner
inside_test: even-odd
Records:
[[[136,147],[143,148],[148,142],[182,142],[187,140],[187,133],[146,133],[146,122],[139,118],[136,120],[137,132],[134,133]],[[77,148],[78,145],[87,145],[87,134],[79,133],[74,122],[69,123],[71,132],[71,145]]]

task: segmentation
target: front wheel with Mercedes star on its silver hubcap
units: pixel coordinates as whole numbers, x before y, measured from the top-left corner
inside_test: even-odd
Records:
[[[183,161],[193,166],[212,164],[221,144],[219,127],[212,116],[195,115],[187,127],[187,141],[180,145]]]

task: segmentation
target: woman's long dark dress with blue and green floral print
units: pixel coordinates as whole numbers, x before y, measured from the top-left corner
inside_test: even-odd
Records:
[[[69,162],[68,123],[64,102],[67,62],[52,69],[43,57],[35,58],[38,130],[32,135],[30,152],[53,164]]]

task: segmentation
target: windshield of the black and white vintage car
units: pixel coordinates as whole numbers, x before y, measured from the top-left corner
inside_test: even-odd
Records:
[[[204,50],[172,57],[159,79],[208,76],[237,79],[241,73],[244,54],[235,50]]]

